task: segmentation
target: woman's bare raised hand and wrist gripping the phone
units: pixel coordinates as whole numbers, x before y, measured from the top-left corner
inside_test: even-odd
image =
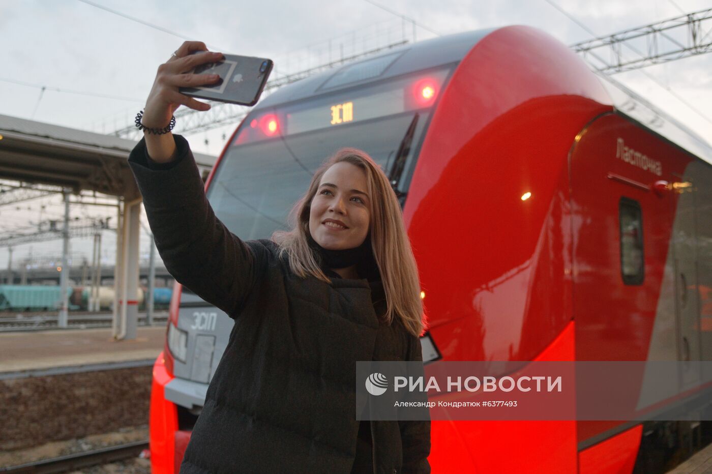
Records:
[[[192,54],[194,51],[204,51],[204,53]],[[179,88],[217,83],[220,79],[218,75],[192,74],[191,71],[198,65],[214,63],[222,58],[222,53],[208,51],[205,43],[201,41],[185,41],[174,56],[158,66],[141,123],[149,128],[163,128],[168,125],[174,112],[181,105],[194,110],[209,110],[209,104],[180,93]],[[144,136],[152,160],[164,163],[173,159],[176,147],[172,134],[145,133]]]

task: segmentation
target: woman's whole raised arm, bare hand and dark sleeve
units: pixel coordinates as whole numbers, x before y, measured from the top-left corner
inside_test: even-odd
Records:
[[[173,57],[159,67],[142,121],[146,127],[165,127],[180,104],[197,110],[209,108],[178,93],[179,85],[205,83],[204,79],[184,73],[196,64],[197,59],[192,58],[203,56],[182,58],[196,48],[205,46],[184,43],[177,51],[178,58]],[[204,62],[207,60],[214,58],[204,58]],[[183,65],[179,65],[181,61]],[[159,121],[158,117],[165,116],[167,120]],[[180,135],[145,133],[132,150],[129,164],[169,273],[204,300],[235,317],[260,278],[266,249],[255,241],[241,241],[216,218],[188,142]]]

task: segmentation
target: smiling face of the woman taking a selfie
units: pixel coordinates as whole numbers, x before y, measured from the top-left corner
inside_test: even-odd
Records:
[[[366,172],[360,167],[338,162],[327,169],[309,212],[309,232],[316,243],[329,250],[360,246],[370,223],[370,196],[366,193]]]

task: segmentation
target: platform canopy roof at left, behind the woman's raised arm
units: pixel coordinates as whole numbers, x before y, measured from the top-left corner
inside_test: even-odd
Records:
[[[129,139],[0,115],[0,178],[136,196],[127,158]],[[216,157],[195,153],[206,175]]]

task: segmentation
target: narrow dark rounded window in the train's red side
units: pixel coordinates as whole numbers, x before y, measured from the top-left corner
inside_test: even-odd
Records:
[[[645,275],[643,216],[638,201],[619,201],[621,275],[626,285],[640,285]]]

